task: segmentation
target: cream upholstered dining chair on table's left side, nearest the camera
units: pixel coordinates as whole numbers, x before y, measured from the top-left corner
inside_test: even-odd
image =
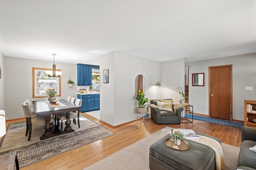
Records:
[[[31,133],[32,133],[32,126],[45,124],[45,117],[34,117],[34,118],[32,118],[30,107],[26,103],[22,103],[22,109],[24,111],[24,115],[26,117],[26,124],[27,124],[26,135],[25,136],[28,136],[28,140],[30,140]],[[54,119],[52,119],[52,117],[50,117],[50,124],[52,125],[52,130],[54,130],[53,122],[54,122]]]

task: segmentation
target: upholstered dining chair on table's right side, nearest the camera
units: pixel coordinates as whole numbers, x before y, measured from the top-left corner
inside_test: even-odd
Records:
[[[76,105],[82,106],[82,100],[81,99],[76,99],[75,101]],[[63,130],[63,121],[65,121],[66,118],[66,113],[60,113],[57,115],[58,117],[58,127],[60,127],[61,130]],[[79,122],[79,116],[76,112],[70,112],[69,113],[69,119],[73,119],[73,123],[76,125],[76,118],[78,122],[78,128],[80,128],[80,122]],[[60,123],[61,121],[61,123]]]

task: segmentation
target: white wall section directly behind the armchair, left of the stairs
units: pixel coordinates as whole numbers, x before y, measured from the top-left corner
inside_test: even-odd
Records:
[[[162,99],[172,99],[174,104],[178,104],[181,99],[180,90],[176,90],[177,87],[181,87],[184,90],[185,87],[185,66],[184,59],[174,59],[169,61],[163,61],[160,64],[160,78],[162,81]]]

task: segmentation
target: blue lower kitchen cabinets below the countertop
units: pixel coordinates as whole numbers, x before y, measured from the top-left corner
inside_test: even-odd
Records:
[[[99,94],[77,95],[77,98],[82,100],[81,112],[100,110],[100,95]]]

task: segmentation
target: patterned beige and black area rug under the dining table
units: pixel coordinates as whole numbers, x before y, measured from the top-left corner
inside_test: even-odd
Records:
[[[28,141],[28,136],[25,136],[26,121],[10,123],[1,142],[0,154],[17,151],[20,168],[23,168],[115,134],[82,115],[79,120],[80,128],[77,124],[71,123],[74,132],[45,140],[40,140],[40,136],[44,133],[44,125],[32,127],[30,141]]]

